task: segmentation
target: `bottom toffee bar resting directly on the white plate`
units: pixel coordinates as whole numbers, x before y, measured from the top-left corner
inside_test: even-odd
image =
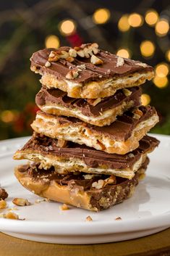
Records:
[[[55,173],[54,168],[42,170],[38,165],[20,165],[15,168],[15,176],[22,186],[41,197],[99,211],[131,197],[148,162],[147,158],[131,180],[85,173],[61,176]]]

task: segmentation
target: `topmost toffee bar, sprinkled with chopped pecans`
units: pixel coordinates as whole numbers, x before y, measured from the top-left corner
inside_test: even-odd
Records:
[[[44,86],[67,91],[72,98],[104,98],[153,78],[153,67],[98,49],[98,44],[43,49],[30,60]]]

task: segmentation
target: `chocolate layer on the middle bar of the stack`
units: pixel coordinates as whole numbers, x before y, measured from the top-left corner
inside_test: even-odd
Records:
[[[122,116],[118,116],[114,123],[111,125],[105,125],[102,127],[96,125],[90,125],[88,123],[82,122],[76,117],[56,117],[59,123],[72,125],[82,124],[88,127],[91,131],[98,133],[99,135],[109,136],[111,139],[116,139],[118,141],[126,141],[132,135],[134,128],[144,120],[148,120],[148,118],[156,115],[156,110],[154,107],[150,106],[140,106],[137,108],[140,110],[141,116],[135,116],[135,110],[129,110],[124,112]],[[40,111],[41,112],[41,111]],[[50,114],[41,112],[45,116],[52,116]]]

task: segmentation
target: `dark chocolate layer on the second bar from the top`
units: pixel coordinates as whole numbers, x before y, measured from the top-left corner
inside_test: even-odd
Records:
[[[125,96],[122,90],[116,91],[114,96],[109,96],[101,100],[98,104],[93,106],[90,101],[86,99],[75,99],[67,96],[67,93],[59,89],[41,88],[35,98],[38,105],[44,104],[59,104],[59,106],[67,107],[69,109],[77,109],[86,116],[98,116],[105,110],[118,107],[122,102],[133,101],[135,106],[140,105],[141,90],[139,87],[132,87],[128,89],[131,91],[129,96]]]

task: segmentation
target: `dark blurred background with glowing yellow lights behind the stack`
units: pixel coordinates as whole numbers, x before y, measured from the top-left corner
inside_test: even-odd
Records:
[[[97,42],[155,67],[143,104],[156,107],[155,133],[170,134],[169,0],[25,0],[0,2],[0,139],[32,133],[40,77],[30,56],[45,47]]]

